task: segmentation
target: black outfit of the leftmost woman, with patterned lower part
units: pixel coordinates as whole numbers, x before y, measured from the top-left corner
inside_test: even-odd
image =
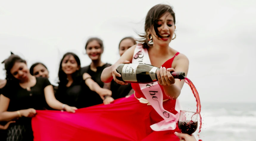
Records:
[[[48,78],[36,77],[36,84],[31,91],[27,91],[19,84],[8,83],[2,89],[2,94],[10,99],[7,111],[25,110],[34,108],[43,110],[47,107],[44,96],[44,88],[51,85]],[[7,129],[7,141],[32,141],[33,132],[31,128],[31,118],[21,117],[15,123],[10,124]]]

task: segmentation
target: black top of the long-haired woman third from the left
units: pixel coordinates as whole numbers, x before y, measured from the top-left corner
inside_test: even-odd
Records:
[[[74,80],[74,82],[67,87],[66,84],[59,84],[55,97],[58,101],[69,106],[77,108],[84,108],[90,106],[88,104],[89,87],[85,84],[82,76]]]

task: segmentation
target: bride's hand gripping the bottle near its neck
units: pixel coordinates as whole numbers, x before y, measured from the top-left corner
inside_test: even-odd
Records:
[[[158,83],[162,86],[171,86],[175,83],[174,77],[171,75],[171,72],[175,72],[174,68],[160,67],[160,70],[157,70],[157,79]]]

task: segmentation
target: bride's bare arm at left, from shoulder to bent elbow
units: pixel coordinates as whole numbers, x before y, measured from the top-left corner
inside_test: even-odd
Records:
[[[119,64],[122,64],[122,63],[127,63],[127,61],[129,62],[132,62],[132,57],[133,57],[133,53],[134,53],[134,50],[135,50],[135,47],[137,45],[133,45],[132,47],[130,47],[127,51],[124,52],[124,54],[118,59],[118,61],[113,64],[112,66],[109,66],[107,68],[105,68],[103,71],[102,71],[102,74],[101,74],[101,80],[102,82],[104,83],[109,83],[111,82],[111,80],[113,79],[113,73],[112,71],[114,69],[116,69],[116,67],[119,65]],[[128,63],[129,63],[128,62]],[[120,81],[122,82],[122,81]]]

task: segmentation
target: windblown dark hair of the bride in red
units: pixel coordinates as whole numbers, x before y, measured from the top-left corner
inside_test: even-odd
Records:
[[[157,4],[149,10],[145,20],[145,27],[144,27],[145,34],[139,35],[139,37],[142,37],[142,38],[138,39],[138,42],[143,45],[143,48],[148,48],[149,46],[152,46],[152,44],[149,43],[148,34],[147,34],[150,28],[153,27],[157,37],[162,38],[162,36],[159,34],[159,31],[157,29],[158,28],[157,22],[159,21],[159,18],[163,16],[166,12],[171,13],[173,17],[173,22],[175,25],[175,13],[171,6],[166,4]],[[149,35],[149,36],[152,36],[152,35]]]

